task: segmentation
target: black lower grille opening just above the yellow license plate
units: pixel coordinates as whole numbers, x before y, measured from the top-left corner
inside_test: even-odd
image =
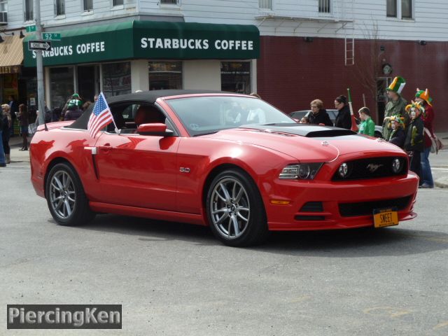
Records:
[[[359,202],[359,203],[340,203],[339,213],[342,217],[352,217],[352,216],[367,216],[372,215],[374,209],[383,209],[397,207],[398,210],[405,209],[409,202],[411,201],[411,196],[393,198],[391,200],[381,200],[374,202]]]

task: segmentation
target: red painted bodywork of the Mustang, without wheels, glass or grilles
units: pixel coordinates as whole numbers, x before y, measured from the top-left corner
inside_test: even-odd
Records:
[[[349,136],[322,144],[318,138],[244,127],[190,137],[168,99],[157,102],[179,130],[179,137],[102,132],[92,138],[87,130],[62,128],[71,122],[49,124],[48,132],[38,127],[30,146],[31,182],[36,193],[45,197],[50,165],[66,160],[76,169],[94,211],[208,225],[207,181],[215,169],[225,166],[244,170],[258,186],[263,200],[258,206],[265,209],[269,230],[372,226],[372,215],[344,217],[339,204],[384,198],[409,197],[409,204],[398,211],[399,220],[416,216],[413,205],[419,180],[412,172],[394,178],[393,183],[391,178],[331,181],[345,161],[406,157],[386,141]],[[279,179],[286,165],[298,162],[325,163],[313,180]],[[182,172],[184,167],[188,174]],[[274,200],[289,203],[273,204]],[[316,215],[300,211],[307,202],[322,202],[323,212],[318,215],[323,219],[297,219]]]

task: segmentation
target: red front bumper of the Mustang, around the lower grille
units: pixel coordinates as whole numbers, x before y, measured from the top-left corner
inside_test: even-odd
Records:
[[[416,217],[412,210],[418,184],[419,178],[412,172],[399,178],[363,181],[277,180],[265,199],[269,230],[369,227],[373,226],[373,209],[385,207],[398,207],[398,220],[407,221]],[[289,204],[272,204],[272,200]]]

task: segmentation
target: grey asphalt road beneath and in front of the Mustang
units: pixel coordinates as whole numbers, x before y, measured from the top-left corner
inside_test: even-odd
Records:
[[[0,169],[0,335],[448,335],[447,189],[398,227],[230,248],[180,223],[56,225],[29,175]],[[6,330],[6,304],[123,304],[123,330]]]

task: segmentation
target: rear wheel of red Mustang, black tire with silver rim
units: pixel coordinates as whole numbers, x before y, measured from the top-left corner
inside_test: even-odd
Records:
[[[50,170],[45,197],[51,216],[59,225],[83,225],[95,216],[78,174],[67,163],[58,163]]]

